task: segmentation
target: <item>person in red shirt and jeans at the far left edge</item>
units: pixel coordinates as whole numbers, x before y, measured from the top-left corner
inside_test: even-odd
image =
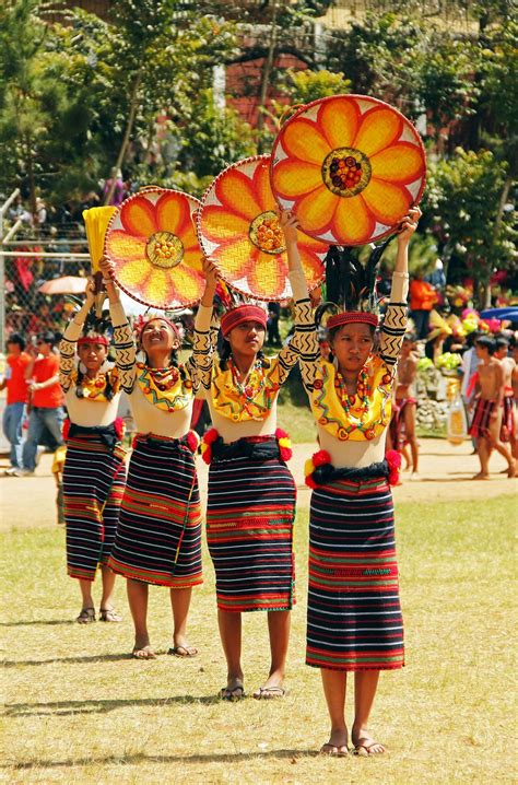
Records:
[[[30,355],[24,351],[25,340],[13,332],[7,340],[7,368],[0,390],[8,388],[7,406],[3,410],[3,433],[11,444],[11,467],[3,472],[8,477],[21,474],[22,464],[22,423],[27,402],[27,383],[25,371],[31,363]]]

